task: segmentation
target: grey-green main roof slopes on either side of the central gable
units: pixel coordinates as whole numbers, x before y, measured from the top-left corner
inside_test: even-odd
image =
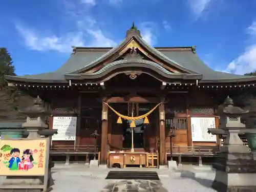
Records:
[[[154,48],[157,53],[161,53],[164,57],[169,58],[173,62],[179,63],[180,66],[194,71],[196,73],[202,74],[202,80],[229,80],[229,79],[246,79],[251,78],[252,76],[244,75],[234,75],[230,73],[224,73],[219,71],[214,71],[210,69],[197,55],[192,51],[174,51],[174,50],[162,50],[161,52]],[[108,53],[110,51],[107,51]],[[99,58],[106,55],[106,52],[102,51],[77,51],[74,55],[67,60],[67,62],[62,65],[59,69],[51,73],[42,73],[37,75],[24,75],[24,76],[15,76],[17,80],[31,80],[41,79],[41,80],[57,80],[65,81],[65,75],[72,73],[79,69],[89,66],[91,63],[95,62]],[[8,77],[7,77],[8,79]]]

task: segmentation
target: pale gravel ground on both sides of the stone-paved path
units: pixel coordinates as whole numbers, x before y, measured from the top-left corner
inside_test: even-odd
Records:
[[[113,180],[105,180],[104,178],[108,174],[109,169],[55,169],[53,173],[54,185],[51,192],[100,192],[106,186],[113,184]],[[154,169],[158,172],[162,188],[157,192],[216,192],[216,190],[210,188],[213,174],[207,174],[207,172],[201,172],[201,176],[193,177],[191,174],[181,174],[175,176],[174,173],[167,170]],[[116,182],[116,181],[115,181]],[[146,190],[144,190],[146,191]]]

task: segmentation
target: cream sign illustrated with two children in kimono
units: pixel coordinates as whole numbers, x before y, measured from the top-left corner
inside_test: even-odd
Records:
[[[0,175],[45,175],[47,141],[0,140]]]

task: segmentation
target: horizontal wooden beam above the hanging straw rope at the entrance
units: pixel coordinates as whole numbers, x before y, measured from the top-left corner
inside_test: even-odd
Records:
[[[126,103],[126,102],[138,102],[138,103],[158,103],[158,98],[155,97],[109,97],[106,102],[108,103]]]

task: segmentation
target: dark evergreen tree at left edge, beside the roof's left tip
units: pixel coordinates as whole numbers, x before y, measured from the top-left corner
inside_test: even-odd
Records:
[[[4,75],[15,75],[13,61],[10,53],[4,47],[0,47],[0,89],[7,85]]]

